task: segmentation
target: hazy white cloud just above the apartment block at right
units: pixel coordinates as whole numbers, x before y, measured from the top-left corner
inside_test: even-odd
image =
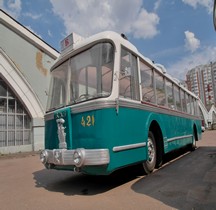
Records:
[[[176,63],[167,66],[167,72],[178,79],[185,79],[188,70],[215,61],[216,47],[205,47],[199,52],[185,56]]]

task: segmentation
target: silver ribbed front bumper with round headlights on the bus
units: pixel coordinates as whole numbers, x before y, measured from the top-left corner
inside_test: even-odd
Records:
[[[40,154],[41,162],[46,168],[53,166],[98,166],[110,162],[108,149],[54,149],[43,150]]]

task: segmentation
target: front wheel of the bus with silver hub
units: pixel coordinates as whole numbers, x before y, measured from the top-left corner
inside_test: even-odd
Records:
[[[154,135],[151,131],[148,133],[148,159],[143,163],[143,168],[146,174],[150,174],[156,165],[156,143]]]

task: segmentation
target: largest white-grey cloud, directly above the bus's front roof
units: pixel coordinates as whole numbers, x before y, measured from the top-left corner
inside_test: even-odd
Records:
[[[66,34],[76,32],[89,36],[113,30],[139,38],[152,38],[157,33],[159,17],[142,8],[142,0],[70,0],[62,4],[50,0],[53,12],[63,19]]]

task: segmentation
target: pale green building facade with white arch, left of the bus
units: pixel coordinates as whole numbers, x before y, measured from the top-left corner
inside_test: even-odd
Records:
[[[43,149],[49,69],[58,56],[0,10],[0,154]]]

